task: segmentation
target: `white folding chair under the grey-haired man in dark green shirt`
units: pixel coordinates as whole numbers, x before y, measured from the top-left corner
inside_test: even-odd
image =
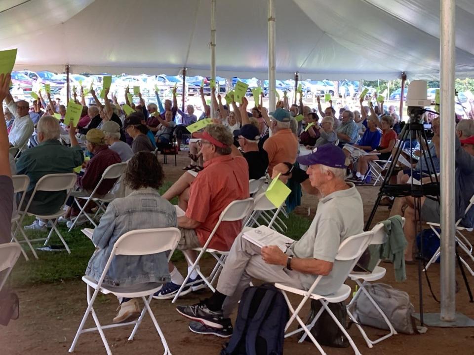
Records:
[[[67,245],[63,236],[59,232],[58,228],[56,227],[56,223],[58,221],[58,218],[64,214],[64,205],[66,205],[66,202],[68,201],[69,195],[71,194],[71,191],[76,184],[76,180],[77,180],[77,175],[74,173],[48,174],[38,180],[38,182],[36,183],[35,189],[33,190],[33,193],[31,194],[30,200],[28,201],[28,204],[26,205],[25,210],[20,211],[20,213],[22,213],[23,216],[18,223],[21,226],[23,219],[25,218],[26,215],[34,215],[38,218],[46,219],[46,221],[51,221],[52,226],[48,233],[47,238],[31,239],[30,242],[45,240],[44,245],[46,245],[48,244],[49,239],[51,238],[51,235],[53,234],[53,231],[55,231],[59,239],[61,239],[61,242],[63,243],[68,253],[71,254],[71,250],[69,249],[69,246]],[[62,205],[60,206],[59,210],[56,213],[36,214],[36,213],[28,212],[31,202],[34,200],[35,195],[38,191],[48,191],[48,192],[66,191],[66,198],[64,199],[64,202],[62,203]]]

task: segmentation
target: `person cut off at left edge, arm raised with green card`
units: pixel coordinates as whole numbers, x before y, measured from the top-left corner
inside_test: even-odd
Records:
[[[10,96],[10,73],[0,74],[0,102]],[[11,214],[13,213],[13,181],[9,160],[8,132],[3,105],[0,105],[0,244],[11,240]]]

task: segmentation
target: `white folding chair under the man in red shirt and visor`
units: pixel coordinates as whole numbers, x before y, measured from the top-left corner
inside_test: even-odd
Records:
[[[254,204],[254,200],[251,197],[244,200],[236,200],[236,201],[231,202],[224,209],[224,211],[221,212],[219,216],[219,220],[217,221],[214,229],[209,235],[209,238],[207,238],[207,241],[204,244],[204,246],[202,248],[193,249],[199,252],[199,255],[197,255],[196,261],[193,263],[191,260],[188,259],[188,256],[184,254],[186,257],[186,260],[188,261],[188,264],[192,264],[192,268],[190,271],[188,271],[188,275],[186,275],[186,278],[184,279],[183,284],[181,284],[181,287],[179,288],[178,292],[174,296],[171,303],[176,302],[176,300],[179,297],[179,294],[181,293],[183,288],[187,285],[186,283],[188,282],[189,277],[191,276],[193,271],[197,272],[197,274],[202,278],[202,281],[204,281],[204,283],[207,284],[207,286],[212,290],[212,292],[215,292],[215,288],[214,286],[212,286],[212,282],[217,278],[219,271],[224,266],[225,257],[229,254],[229,250],[208,249],[207,246],[211,242],[212,237],[214,237],[214,234],[216,233],[217,228],[219,228],[219,225],[221,224],[221,222],[238,221],[238,220],[245,219],[252,211],[253,204]],[[242,223],[242,228],[243,228],[243,223]],[[208,252],[209,254],[214,256],[214,258],[217,260],[216,266],[214,267],[211,275],[208,278],[206,278],[197,267],[200,258],[202,257],[202,255],[204,255],[205,252]],[[200,283],[201,280],[197,280],[196,282]]]

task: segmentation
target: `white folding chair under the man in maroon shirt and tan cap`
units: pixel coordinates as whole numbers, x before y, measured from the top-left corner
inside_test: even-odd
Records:
[[[94,190],[88,196],[80,196],[79,194],[75,195],[75,192],[72,193],[72,196],[74,196],[74,201],[77,203],[78,206],[80,206],[79,200],[86,200],[86,201],[85,201],[84,205],[82,206],[82,208],[80,209],[79,214],[76,216],[76,218],[74,218],[73,224],[69,228],[69,232],[71,232],[73,230],[73,228],[76,225],[76,222],[79,220],[79,217],[80,217],[81,214],[84,214],[87,217],[87,219],[89,220],[89,222],[91,222],[94,225],[94,227],[97,227],[97,223],[95,223],[94,217],[91,217],[89,214],[85,213],[84,210],[87,207],[87,205],[89,204],[89,202],[93,201],[93,202],[96,202],[96,204],[97,204],[97,212],[95,213],[94,216],[96,216],[100,211],[105,212],[106,209],[104,207],[104,204],[109,203],[109,202],[113,201],[116,198],[116,196],[113,193],[111,193],[111,191],[114,189],[114,187],[116,186],[116,184],[120,180],[119,178],[122,176],[122,174],[125,171],[126,167],[127,167],[127,163],[125,163],[125,162],[112,164],[111,166],[107,167],[107,169],[102,173],[102,177],[100,178],[99,182],[95,186]],[[107,194],[105,194],[105,196],[102,196],[102,197],[94,196],[95,192],[97,191],[99,186],[102,184],[102,181],[104,181],[106,179],[116,179],[116,181],[115,181],[114,185],[110,188],[110,190],[107,192]]]

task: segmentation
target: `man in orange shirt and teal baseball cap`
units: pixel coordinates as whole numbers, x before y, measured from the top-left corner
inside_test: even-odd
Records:
[[[265,110],[264,110],[265,111]],[[284,108],[277,108],[270,112],[270,120],[273,135],[263,143],[263,148],[268,153],[268,173],[272,176],[273,167],[276,164],[296,161],[298,153],[298,140],[291,132],[291,114]]]

